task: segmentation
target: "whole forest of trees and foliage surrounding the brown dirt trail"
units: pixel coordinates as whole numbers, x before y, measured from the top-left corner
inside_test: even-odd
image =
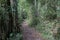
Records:
[[[60,0],[0,0],[0,40],[22,40],[21,23],[60,40]]]

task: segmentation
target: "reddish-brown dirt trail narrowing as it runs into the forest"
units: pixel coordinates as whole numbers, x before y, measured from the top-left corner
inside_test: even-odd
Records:
[[[34,28],[30,28],[26,21],[22,23],[23,40],[43,40],[41,34]]]

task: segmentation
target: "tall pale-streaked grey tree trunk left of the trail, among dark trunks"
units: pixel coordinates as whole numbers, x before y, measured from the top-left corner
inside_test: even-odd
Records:
[[[12,9],[12,15],[13,15],[13,24],[15,31],[18,27],[18,11],[17,11],[17,0],[10,0],[11,3],[11,9]]]

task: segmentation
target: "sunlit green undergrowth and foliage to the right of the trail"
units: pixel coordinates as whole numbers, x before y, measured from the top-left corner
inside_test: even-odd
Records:
[[[59,23],[58,17],[60,17],[60,1],[57,0],[20,0],[20,12],[25,11],[27,13],[26,21],[37,31],[42,33],[42,36],[46,40],[59,40],[58,36],[54,36],[53,31]],[[24,13],[24,14],[25,14]],[[22,13],[21,13],[22,14]],[[53,31],[52,31],[53,30]]]

